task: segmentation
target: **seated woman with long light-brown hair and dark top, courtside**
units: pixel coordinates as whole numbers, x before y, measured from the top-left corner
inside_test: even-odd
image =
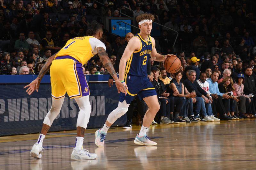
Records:
[[[227,107],[227,112],[228,116],[231,117],[232,119],[239,119],[237,115],[235,115],[235,112],[238,114],[238,108],[237,107],[237,102],[239,101],[236,92],[235,92],[235,87],[233,83],[233,79],[230,76],[227,76],[226,78],[223,79],[223,81],[219,84],[219,90],[221,93],[228,93],[228,92],[233,92],[233,95],[229,95],[229,101],[224,99],[223,104],[224,106]],[[243,106],[245,108],[245,102],[243,102]]]

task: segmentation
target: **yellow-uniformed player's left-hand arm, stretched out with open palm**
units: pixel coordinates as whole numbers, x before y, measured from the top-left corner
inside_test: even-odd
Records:
[[[58,53],[58,52],[57,52]],[[49,57],[46,62],[44,63],[44,66],[42,67],[42,69],[40,70],[37,78],[35,80],[33,80],[29,85],[26,85],[24,88],[28,89],[26,90],[26,92],[28,93],[28,95],[32,94],[35,90],[36,92],[38,92],[39,86],[40,86],[40,82],[42,80],[42,78],[44,77],[44,74],[50,70],[50,67],[52,65],[52,61],[55,58],[55,55],[57,54],[55,53],[54,55],[52,55],[51,57]]]

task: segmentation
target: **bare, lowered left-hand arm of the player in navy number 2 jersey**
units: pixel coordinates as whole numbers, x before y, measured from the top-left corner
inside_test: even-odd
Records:
[[[124,80],[125,64],[131,57],[132,53],[140,49],[140,39],[138,37],[132,37],[124,49],[124,54],[119,63],[119,80]],[[125,83],[124,83],[125,84]]]

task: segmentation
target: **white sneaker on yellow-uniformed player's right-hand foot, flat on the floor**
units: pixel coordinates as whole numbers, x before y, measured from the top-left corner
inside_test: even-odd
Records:
[[[71,159],[72,160],[83,160],[83,159],[95,159],[97,158],[98,155],[96,153],[90,153],[88,150],[82,149],[77,152],[76,149],[73,149],[73,152],[71,154]]]

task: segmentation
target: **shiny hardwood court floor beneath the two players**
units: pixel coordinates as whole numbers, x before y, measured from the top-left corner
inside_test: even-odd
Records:
[[[0,169],[255,169],[256,119],[151,125],[157,146],[133,143],[139,126],[110,129],[104,148],[94,144],[95,129],[86,131],[84,148],[94,160],[73,161],[76,131],[52,132],[44,139],[42,159],[29,156],[38,134],[0,137]]]

